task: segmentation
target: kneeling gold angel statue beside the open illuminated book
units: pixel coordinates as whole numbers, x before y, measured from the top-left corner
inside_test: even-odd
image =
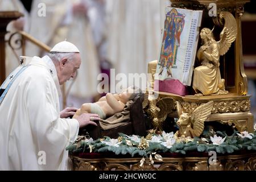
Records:
[[[225,55],[236,40],[237,24],[234,16],[227,11],[222,11],[219,16],[225,20],[220,41],[216,42],[209,28],[203,28],[200,32],[203,46],[197,52],[197,59],[201,65],[195,68],[193,74],[193,89],[197,96],[228,93],[225,90],[225,80],[221,79],[220,56]]]

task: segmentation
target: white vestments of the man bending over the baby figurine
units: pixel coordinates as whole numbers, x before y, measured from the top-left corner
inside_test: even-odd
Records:
[[[73,69],[79,68],[81,59],[80,63],[64,61],[56,67],[59,62],[53,64],[49,56],[23,58],[6,79],[13,84],[5,86],[4,82],[1,86],[8,91],[0,92],[0,170],[67,169],[65,148],[75,142],[81,123],[79,119],[60,118],[60,84],[75,74]],[[19,68],[24,71],[15,74]],[[64,69],[66,77],[61,80]],[[68,76],[67,72],[74,73]]]

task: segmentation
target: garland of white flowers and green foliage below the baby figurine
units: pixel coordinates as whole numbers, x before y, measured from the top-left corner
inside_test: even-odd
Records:
[[[152,159],[161,159],[157,153],[180,153],[187,154],[189,151],[209,152],[216,151],[219,154],[232,154],[235,151],[251,150],[256,151],[256,132],[254,134],[243,131],[242,133],[234,132],[232,136],[217,131],[210,138],[177,138],[173,132],[155,134],[150,131],[146,137],[138,135],[128,136],[119,133],[118,139],[104,137],[93,140],[80,139],[76,143],[69,145],[66,149],[71,153],[81,152],[114,152],[116,155],[130,154],[148,156]],[[218,135],[218,136],[217,136]]]

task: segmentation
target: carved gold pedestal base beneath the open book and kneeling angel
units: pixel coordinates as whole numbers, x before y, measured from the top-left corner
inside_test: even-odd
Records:
[[[171,93],[159,92],[158,100],[161,98],[173,98],[175,103],[180,101],[185,113],[192,113],[196,107],[213,101],[212,114],[206,121],[218,121],[228,125],[236,126],[238,131],[254,131],[254,117],[250,113],[250,96],[237,96],[236,94],[226,94],[220,96],[179,96]],[[176,105],[170,109],[169,117],[178,118]],[[161,111],[160,111],[161,112]],[[154,115],[154,114],[152,114]]]

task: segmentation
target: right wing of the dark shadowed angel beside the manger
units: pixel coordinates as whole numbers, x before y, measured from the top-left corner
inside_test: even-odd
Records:
[[[158,118],[164,120],[167,114],[171,113],[172,109],[174,109],[174,99],[168,97],[161,98],[156,102],[156,106],[160,109]]]

